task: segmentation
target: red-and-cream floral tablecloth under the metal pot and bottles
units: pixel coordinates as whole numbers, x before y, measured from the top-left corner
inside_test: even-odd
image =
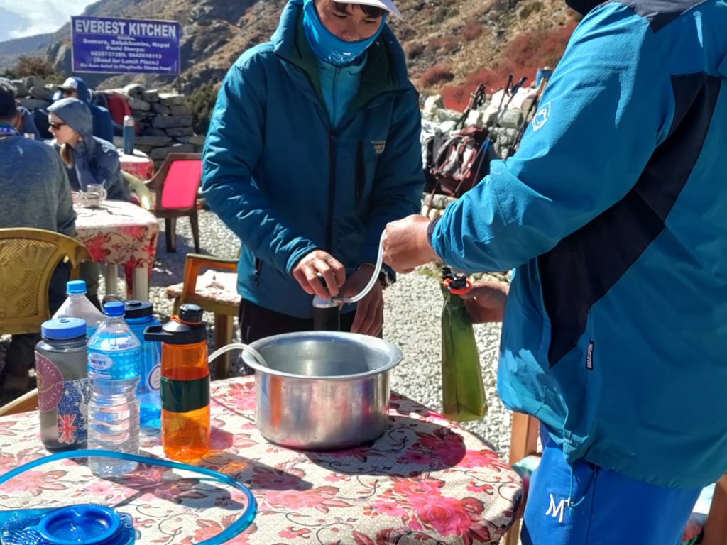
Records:
[[[497,543],[521,499],[520,477],[487,445],[404,397],[393,395],[373,445],[336,453],[271,445],[253,415],[252,378],[212,384],[212,450],[201,464],[246,483],[258,503],[230,544]],[[46,454],[37,426],[35,413],[0,419],[1,472]],[[157,443],[142,454],[162,456]],[[77,503],[128,512],[137,543],[190,545],[236,520],[244,496],[160,467],[101,480],[68,460],[0,486],[0,509]]]

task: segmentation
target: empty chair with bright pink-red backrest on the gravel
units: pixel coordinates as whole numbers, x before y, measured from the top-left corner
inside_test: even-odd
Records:
[[[154,177],[145,182],[156,193],[151,211],[164,218],[167,252],[177,251],[177,218],[184,216],[192,227],[194,251],[200,251],[197,190],[201,177],[201,153],[169,153]]]

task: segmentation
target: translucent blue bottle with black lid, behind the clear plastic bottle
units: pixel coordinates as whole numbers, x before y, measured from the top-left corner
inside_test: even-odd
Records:
[[[154,318],[150,302],[126,301],[124,307],[126,325],[141,343],[141,373],[137,387],[139,423],[142,433],[155,434],[161,427],[161,346],[158,342],[145,341],[144,330],[148,326],[158,326],[159,322]]]

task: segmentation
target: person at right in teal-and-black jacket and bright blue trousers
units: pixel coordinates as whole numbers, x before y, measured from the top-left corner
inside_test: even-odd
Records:
[[[518,153],[384,259],[516,267],[497,387],[545,440],[523,544],[676,545],[727,472],[727,1],[573,4]]]

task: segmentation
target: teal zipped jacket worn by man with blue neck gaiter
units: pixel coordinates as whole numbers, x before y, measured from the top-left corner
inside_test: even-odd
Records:
[[[305,254],[325,249],[348,274],[373,262],[387,222],[419,210],[420,126],[418,95],[388,28],[332,126],[302,0],[289,1],[271,41],[230,68],[204,148],[204,196],[243,243],[244,299],[309,318],[312,296],[291,275]]]

